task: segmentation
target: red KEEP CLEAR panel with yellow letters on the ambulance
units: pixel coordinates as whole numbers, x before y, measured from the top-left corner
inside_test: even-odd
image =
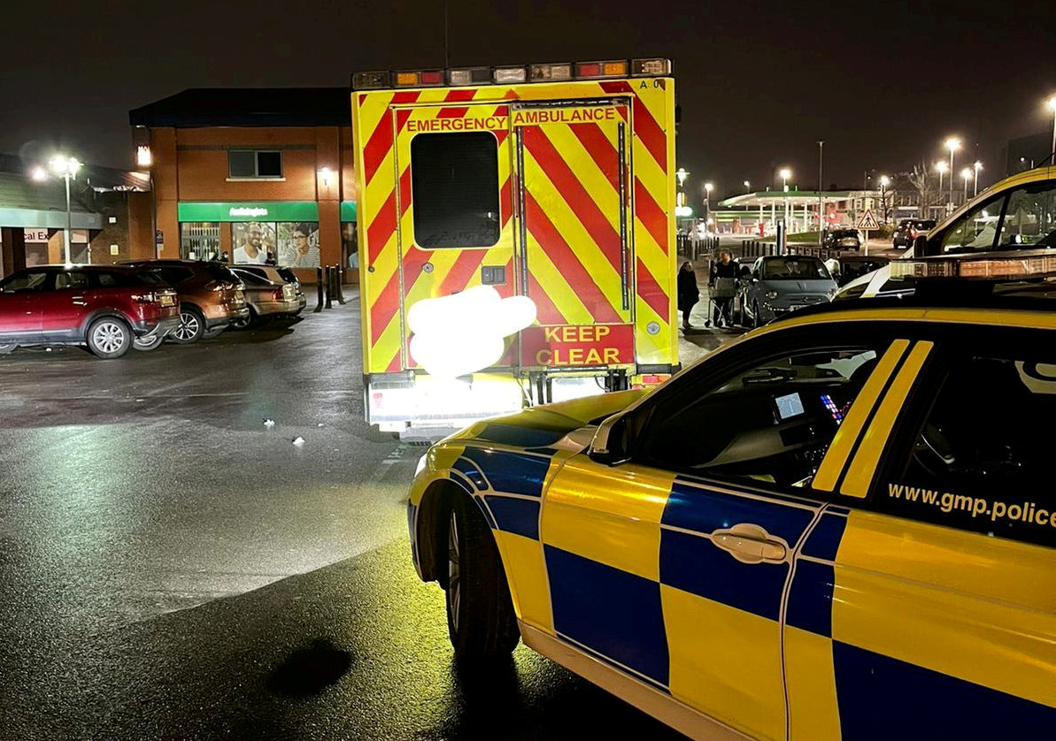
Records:
[[[527,327],[521,330],[521,362],[543,367],[631,365],[635,328],[630,324]]]

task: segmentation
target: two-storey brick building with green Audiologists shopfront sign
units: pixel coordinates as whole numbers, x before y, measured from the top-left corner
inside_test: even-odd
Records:
[[[350,94],[185,90],[131,111],[157,255],[274,262],[306,281],[319,265],[357,266]]]

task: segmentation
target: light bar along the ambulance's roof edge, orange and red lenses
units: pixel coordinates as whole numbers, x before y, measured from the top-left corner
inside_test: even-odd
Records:
[[[664,77],[671,74],[671,60],[607,59],[586,62],[552,62],[528,66],[467,66],[450,70],[406,70],[357,72],[352,76],[353,90],[384,88],[472,87],[515,84],[518,82],[557,82],[573,79],[610,79],[619,77]]]

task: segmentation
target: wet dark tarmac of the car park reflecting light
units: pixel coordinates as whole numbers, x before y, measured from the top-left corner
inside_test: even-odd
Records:
[[[456,669],[358,348],[350,303],[0,357],[0,738],[681,738],[523,646]]]

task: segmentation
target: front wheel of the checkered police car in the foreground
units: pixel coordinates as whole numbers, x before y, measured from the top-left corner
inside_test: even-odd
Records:
[[[455,499],[448,521],[448,634],[455,657],[508,657],[520,631],[495,539],[476,505]]]

